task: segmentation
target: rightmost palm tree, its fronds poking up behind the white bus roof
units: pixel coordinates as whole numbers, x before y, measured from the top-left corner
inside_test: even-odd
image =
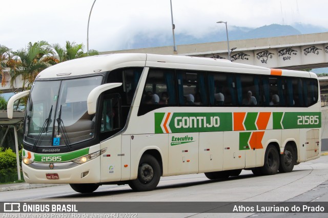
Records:
[[[74,41],[66,41],[66,46],[65,48],[61,47],[58,43],[54,44],[52,48],[55,50],[58,56],[59,62],[64,62],[67,60],[72,60],[75,58],[80,58],[80,57],[87,57],[87,56],[92,56],[92,55],[98,55],[98,51],[96,50],[89,50],[88,53],[84,53],[83,43],[76,44]]]

